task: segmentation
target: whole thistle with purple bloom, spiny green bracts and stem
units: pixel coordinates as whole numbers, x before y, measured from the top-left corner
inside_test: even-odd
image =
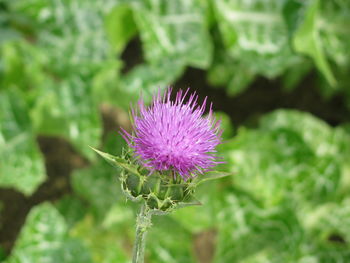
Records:
[[[198,103],[196,93],[180,90],[171,100],[172,90],[153,97],[146,106],[143,99],[132,109],[132,133],[122,130],[128,144],[122,156],[94,149],[120,170],[126,197],[141,202],[136,220],[133,263],[144,262],[145,238],[152,215],[199,205],[194,197],[198,184],[227,176],[213,171],[220,163],[216,146],[221,143],[220,121],[212,104],[204,116],[206,99]]]

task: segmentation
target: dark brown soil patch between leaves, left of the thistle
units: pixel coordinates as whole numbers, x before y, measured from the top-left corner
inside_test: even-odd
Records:
[[[39,136],[38,144],[45,157],[47,180],[30,197],[14,189],[0,188],[4,203],[0,215],[0,247],[10,253],[30,209],[45,201],[54,201],[71,193],[69,175],[88,162],[64,139]]]

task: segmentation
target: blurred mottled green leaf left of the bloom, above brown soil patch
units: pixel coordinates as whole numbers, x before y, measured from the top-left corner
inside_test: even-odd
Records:
[[[61,135],[76,149],[92,158],[88,145],[97,145],[101,120],[90,87],[78,76],[48,81],[37,90],[38,100],[31,118],[38,133]]]

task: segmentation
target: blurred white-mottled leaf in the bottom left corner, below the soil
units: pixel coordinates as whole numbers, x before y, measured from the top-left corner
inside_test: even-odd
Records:
[[[59,212],[48,203],[31,210],[6,262],[92,262],[89,252],[67,233]]]

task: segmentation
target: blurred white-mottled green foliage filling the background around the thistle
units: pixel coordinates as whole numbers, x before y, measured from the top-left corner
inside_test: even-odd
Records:
[[[350,107],[348,25],[348,0],[0,1],[0,186],[30,196],[45,181],[38,135],[90,161],[73,194],[30,211],[6,262],[130,262],[136,207],[87,147],[124,146],[102,143],[102,103],[127,110],[192,66],[228,95],[261,75],[290,90],[317,69],[320,92]],[[144,61],[122,73],[134,37]],[[220,114],[220,169],[235,176],[200,186],[204,206],[155,217],[149,262],[201,262],[205,231],[212,262],[350,262],[350,126],[278,110],[236,131]]]

